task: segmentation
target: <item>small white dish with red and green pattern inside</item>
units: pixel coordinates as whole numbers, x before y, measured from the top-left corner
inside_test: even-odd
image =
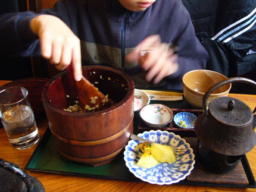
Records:
[[[150,127],[165,127],[173,119],[173,111],[165,105],[145,105],[139,116]]]

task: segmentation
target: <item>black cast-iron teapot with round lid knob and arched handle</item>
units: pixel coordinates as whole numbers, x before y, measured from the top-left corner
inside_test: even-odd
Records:
[[[254,148],[256,125],[254,112],[241,100],[232,97],[217,97],[211,100],[207,110],[207,98],[218,87],[227,83],[241,82],[256,88],[255,81],[233,77],[214,84],[202,99],[204,113],[195,122],[198,137],[199,159],[211,166],[214,172],[226,172],[235,168],[242,155]],[[227,160],[228,159],[228,160]]]

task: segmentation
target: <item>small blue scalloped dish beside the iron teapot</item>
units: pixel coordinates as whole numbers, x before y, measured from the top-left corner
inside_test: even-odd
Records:
[[[189,112],[180,112],[174,115],[173,121],[180,128],[194,128],[196,116]]]

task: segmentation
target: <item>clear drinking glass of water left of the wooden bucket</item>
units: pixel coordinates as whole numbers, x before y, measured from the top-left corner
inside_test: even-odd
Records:
[[[0,91],[0,117],[15,149],[27,149],[38,142],[38,127],[28,91],[24,87],[9,87]]]

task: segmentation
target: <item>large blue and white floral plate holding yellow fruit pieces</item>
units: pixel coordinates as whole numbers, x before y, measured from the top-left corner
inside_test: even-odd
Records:
[[[142,151],[139,149],[139,141],[130,140],[124,150],[124,161],[127,168],[135,177],[142,181],[158,185],[170,185],[181,180],[184,180],[193,169],[195,164],[195,155],[189,143],[185,139],[177,136],[174,133],[167,131],[145,131],[138,134],[139,137],[154,141],[160,144],[167,144],[170,146],[185,147],[186,152],[182,155],[176,155],[176,162],[174,163],[160,163],[150,169],[141,168],[136,165],[139,158],[142,156]]]

